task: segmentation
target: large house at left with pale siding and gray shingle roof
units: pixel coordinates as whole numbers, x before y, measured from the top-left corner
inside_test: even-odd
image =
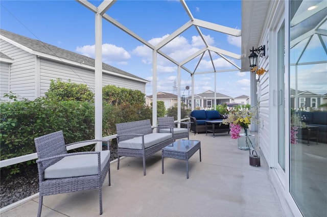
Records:
[[[35,99],[48,91],[51,79],[70,79],[95,91],[95,60],[44,42],[0,30],[0,97],[10,91]],[[102,65],[102,85],[114,85],[145,93],[146,83],[110,65]]]

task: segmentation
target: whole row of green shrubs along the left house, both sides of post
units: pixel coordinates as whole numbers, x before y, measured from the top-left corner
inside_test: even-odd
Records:
[[[120,91],[120,94],[117,95],[117,103],[103,103],[103,136],[115,134],[116,123],[152,120],[152,108],[145,105],[141,91],[124,88],[110,90]],[[6,97],[14,101],[0,102],[1,160],[35,153],[34,138],[59,130],[63,131],[66,144],[94,138],[95,105],[92,103],[93,95],[89,94],[86,86],[57,79],[57,82],[52,80],[46,97],[34,101],[18,101],[12,93],[6,94]],[[93,148],[86,146],[72,151],[89,151]],[[17,173],[28,173],[28,165],[33,163],[35,160],[2,168],[1,175],[8,178]]]

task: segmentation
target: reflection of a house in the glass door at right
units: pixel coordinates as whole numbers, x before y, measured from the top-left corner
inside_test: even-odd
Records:
[[[301,108],[305,111],[310,111],[310,108],[317,109],[319,105],[325,103],[324,99],[327,97],[326,94],[319,95],[315,94],[311,91],[296,91],[294,89],[290,89],[290,103],[291,108],[294,108],[296,111]],[[296,104],[295,104],[296,101]]]

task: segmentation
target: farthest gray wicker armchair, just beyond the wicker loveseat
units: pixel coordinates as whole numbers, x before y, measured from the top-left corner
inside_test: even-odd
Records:
[[[177,128],[176,124],[178,123],[186,124],[186,128]],[[174,117],[160,117],[158,118],[158,126],[160,127],[159,132],[171,132],[171,127],[174,127],[173,130],[174,140],[178,140],[186,137],[189,139],[189,132],[190,132],[189,123],[183,123],[183,122],[178,122],[178,123],[174,123]],[[165,128],[164,126],[167,126],[167,128]]]

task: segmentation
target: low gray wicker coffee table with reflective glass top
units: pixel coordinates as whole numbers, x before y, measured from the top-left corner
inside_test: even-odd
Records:
[[[178,140],[162,149],[162,174],[164,174],[164,157],[186,160],[186,178],[189,178],[189,159],[197,151],[200,151],[201,142],[197,140]]]

